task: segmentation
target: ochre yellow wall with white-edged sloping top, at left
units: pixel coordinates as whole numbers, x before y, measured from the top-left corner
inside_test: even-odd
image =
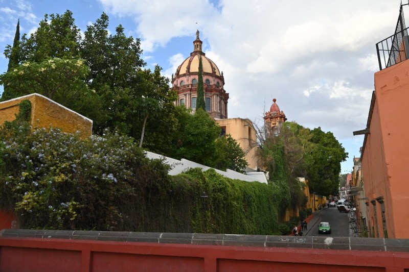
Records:
[[[0,125],[13,121],[22,100],[31,102],[31,126],[33,128],[59,128],[63,132],[80,131],[81,138],[91,136],[93,121],[49,98],[33,93],[0,103]]]

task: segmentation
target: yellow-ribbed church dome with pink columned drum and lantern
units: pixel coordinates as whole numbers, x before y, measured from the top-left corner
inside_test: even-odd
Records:
[[[177,91],[176,105],[185,105],[187,108],[196,109],[197,80],[199,73],[199,58],[202,61],[203,91],[205,92],[206,111],[217,119],[228,118],[227,103],[229,93],[224,90],[223,72],[201,49],[202,41],[199,31],[193,41],[193,52],[190,57],[180,64],[172,75],[172,88]]]

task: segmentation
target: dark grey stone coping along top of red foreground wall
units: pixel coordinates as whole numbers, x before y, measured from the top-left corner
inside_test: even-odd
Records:
[[[264,248],[275,247],[409,252],[409,239],[22,229],[4,229],[0,232],[0,236],[4,238],[72,239],[197,245],[257,246]]]

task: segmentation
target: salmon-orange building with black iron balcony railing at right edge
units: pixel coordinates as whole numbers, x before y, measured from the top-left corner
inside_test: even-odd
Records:
[[[401,5],[395,34],[376,44],[380,71],[367,127],[354,132],[365,134],[361,163],[370,237],[409,238],[409,40],[401,28],[407,5]]]

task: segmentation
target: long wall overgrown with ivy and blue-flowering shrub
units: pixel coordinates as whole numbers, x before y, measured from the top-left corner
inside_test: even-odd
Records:
[[[282,234],[286,182],[244,182],[199,168],[171,177],[129,137],[33,131],[29,106],[21,103],[17,118],[0,127],[0,208],[21,228]]]

